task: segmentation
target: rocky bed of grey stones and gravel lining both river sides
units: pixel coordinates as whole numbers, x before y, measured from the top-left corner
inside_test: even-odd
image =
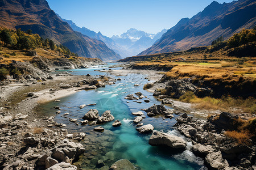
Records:
[[[147,74],[145,79],[151,82],[159,81],[162,77],[158,71],[148,70],[110,70],[102,69],[102,73],[107,75],[71,75],[69,72],[62,72],[56,75],[50,74],[50,79],[21,79],[18,82],[4,82],[1,87],[1,105],[0,105],[0,150],[1,159],[0,167],[3,169],[77,169],[81,164],[90,162],[94,164],[93,168],[98,169],[138,169],[127,159],[118,160],[115,163],[106,165],[107,162],[98,156],[97,150],[105,151],[109,143],[113,143],[113,133],[104,130],[101,126],[106,122],[113,123],[114,127],[123,126],[121,121],[115,119],[112,112],[105,111],[102,115],[98,114],[96,109],[91,109],[82,117],[83,121],[77,121],[68,115],[61,106],[58,107],[60,97],[74,94],[81,90],[94,90],[96,88],[105,87],[118,83],[118,76],[129,74]],[[131,78],[133,79],[133,78]],[[11,80],[14,81],[14,80]],[[133,112],[134,124],[142,135],[152,134],[148,140],[149,145],[157,147],[172,148],[175,151],[191,150],[195,155],[205,160],[205,165],[210,169],[252,169],[255,168],[255,145],[238,145],[236,141],[226,137],[225,131],[232,130],[233,114],[222,113],[221,111],[195,111],[189,104],[181,103],[173,100],[170,96],[162,95],[156,90],[156,87],[163,87],[177,91],[177,95],[182,94],[187,88],[196,88],[191,86],[181,86],[176,88],[180,83],[155,82],[151,92],[154,92],[156,99],[162,102],[162,105],[153,105],[149,108],[142,109],[139,112]],[[134,86],[143,86],[141,83],[134,82]],[[170,88],[172,87],[172,89]],[[184,87],[184,88],[181,88]],[[135,101],[151,102],[151,100],[143,95],[143,92],[128,94],[126,96],[127,103]],[[141,101],[142,100],[142,101]],[[54,121],[54,115],[45,116],[38,114],[36,105],[55,101],[56,114],[67,117],[69,122],[77,126],[95,126],[90,131],[70,133],[66,129],[65,124]],[[133,102],[132,102],[133,103]],[[79,108],[90,107],[97,103],[86,103],[79,105]],[[172,106],[174,109],[166,109],[164,107]],[[144,116],[146,112],[146,116]],[[195,114],[197,113],[197,114]],[[213,114],[208,120],[201,115]],[[216,114],[216,115],[215,115]],[[177,117],[179,115],[180,117]],[[195,115],[192,117],[191,115]],[[186,139],[154,130],[151,124],[144,124],[146,117],[159,117],[164,119],[176,118],[175,128],[183,134]],[[242,118],[250,115],[243,114]],[[199,118],[197,118],[199,117]],[[229,126],[226,125],[229,122]],[[98,146],[97,140],[100,134],[105,143]],[[97,137],[97,138],[96,138]],[[81,145],[79,141],[84,141],[88,145]],[[187,142],[193,143],[192,148],[187,147]],[[254,141],[251,141],[254,142]],[[94,144],[95,143],[95,144]],[[7,153],[7,154],[6,154]],[[108,152],[108,154],[111,154]],[[81,156],[87,156],[88,159],[81,159]],[[94,155],[94,156],[92,156]],[[114,156],[114,155],[112,155]],[[79,160],[79,162],[77,162]],[[73,164],[73,165],[72,165]],[[88,163],[89,164],[89,163]],[[76,166],[74,166],[76,165]]]

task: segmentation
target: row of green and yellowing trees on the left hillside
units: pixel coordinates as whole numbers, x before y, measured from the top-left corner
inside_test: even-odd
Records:
[[[78,56],[76,53],[72,53],[66,46],[55,44],[53,40],[43,39],[37,33],[32,33],[31,29],[26,32],[20,29],[2,29],[0,28],[0,40],[6,47],[11,46],[13,49],[30,50],[35,48],[49,48],[52,50],[58,50],[60,53]]]

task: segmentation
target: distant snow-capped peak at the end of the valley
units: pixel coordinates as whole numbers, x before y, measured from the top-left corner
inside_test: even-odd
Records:
[[[115,41],[115,44],[129,51],[131,53],[130,56],[135,56],[158,41],[166,31],[166,29],[163,29],[162,31],[154,34],[130,28],[120,36],[113,36],[112,39]]]

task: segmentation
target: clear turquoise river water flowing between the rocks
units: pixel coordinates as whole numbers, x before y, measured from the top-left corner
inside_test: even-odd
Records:
[[[108,67],[108,66],[106,66]],[[78,75],[104,75],[105,73],[99,73],[91,69],[77,69],[73,70],[72,74]],[[100,68],[102,69],[102,68]],[[120,69],[120,68],[116,68]],[[63,70],[61,70],[63,71]],[[118,76],[121,81],[115,82],[111,86],[105,88],[97,88],[96,90],[80,91],[68,97],[60,99],[59,103],[48,103],[42,105],[43,111],[52,116],[55,114],[54,106],[59,105],[61,114],[55,116],[55,121],[64,123],[69,131],[72,132],[84,132],[86,137],[84,141],[81,141],[85,145],[85,154],[80,156],[79,162],[75,163],[82,169],[95,168],[95,165],[99,159],[104,160],[105,164],[110,166],[119,159],[128,159],[141,169],[200,169],[203,167],[203,160],[197,158],[191,151],[185,150],[183,152],[175,152],[167,150],[162,147],[153,147],[148,144],[149,135],[139,134],[136,130],[135,124],[133,124],[133,116],[131,112],[138,112],[143,108],[148,108],[153,104],[160,104],[160,101],[156,100],[151,93],[144,91],[143,84],[148,83],[145,75],[131,74],[127,76]],[[134,87],[134,84],[141,84],[139,87]],[[143,99],[141,104],[135,103],[129,100],[127,103],[124,97],[127,94],[134,94],[135,92],[142,92],[144,96],[150,99],[150,103],[145,103]],[[97,103],[94,106],[88,106],[80,109],[81,104]],[[168,108],[168,107],[167,107]],[[110,110],[115,117],[115,120],[120,120],[122,125],[114,128],[112,122],[102,124],[105,131],[103,133],[97,133],[92,129],[98,125],[85,125],[77,126],[72,122],[69,122],[68,118],[61,117],[62,114],[68,112],[68,117],[76,118],[82,121],[82,117],[89,109],[97,109],[101,115],[104,111]],[[171,109],[171,108],[169,108]],[[145,113],[146,115],[146,113]],[[175,115],[176,116],[176,115]],[[175,124],[175,118],[168,118],[163,120],[162,117],[150,118],[146,116],[142,121],[143,125],[152,124],[156,130],[180,135],[176,130],[172,128]],[[191,144],[188,143],[188,147]]]

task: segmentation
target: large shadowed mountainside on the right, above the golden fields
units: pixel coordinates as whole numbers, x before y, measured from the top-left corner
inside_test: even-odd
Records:
[[[183,18],[161,39],[138,55],[187,50],[210,45],[217,37],[228,39],[242,28],[256,25],[256,2],[239,0],[220,4],[213,1],[191,19]]]

